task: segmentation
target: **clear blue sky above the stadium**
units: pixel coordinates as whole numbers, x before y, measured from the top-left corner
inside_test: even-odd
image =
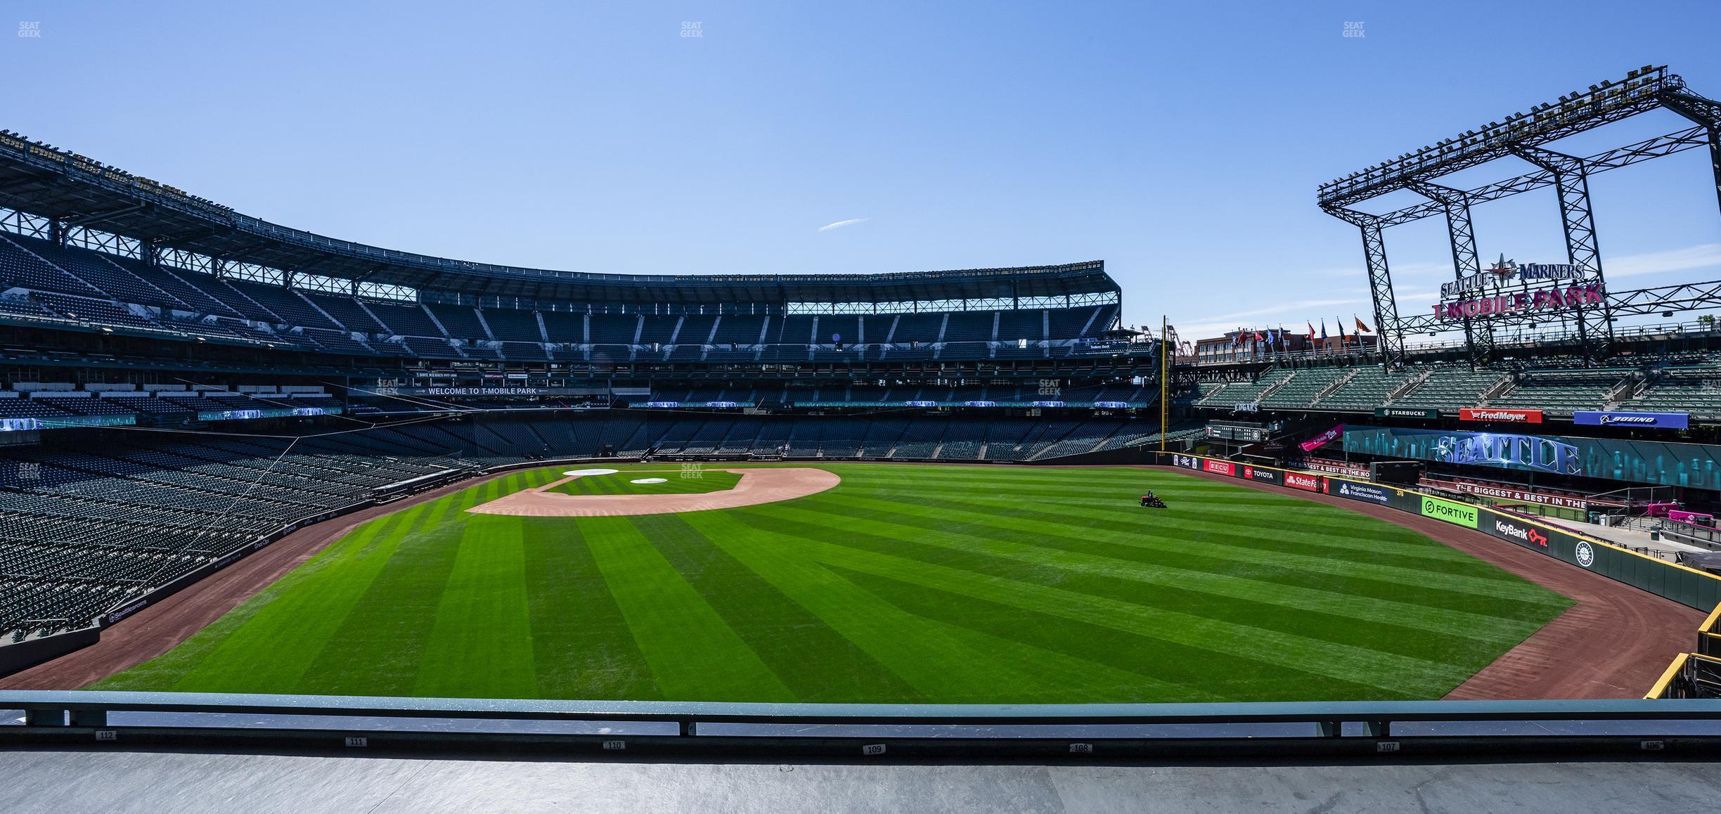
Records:
[[[0,46],[0,126],[279,224],[589,272],[1098,258],[1126,322],[1186,337],[1368,318],[1323,181],[1644,64],[1721,96],[1714,0],[7,7],[40,36]],[[1702,151],[1592,194],[1611,287],[1721,279]],[[1564,262],[1551,189],[1475,224],[1487,258]],[[1439,219],[1387,250],[1401,310],[1451,277]]]

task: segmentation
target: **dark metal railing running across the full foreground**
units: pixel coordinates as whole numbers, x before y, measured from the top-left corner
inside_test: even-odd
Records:
[[[1721,749],[1721,700],[726,704],[0,692],[0,742],[852,757]]]

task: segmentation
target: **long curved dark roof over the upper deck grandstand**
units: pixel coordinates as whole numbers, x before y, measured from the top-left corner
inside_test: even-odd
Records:
[[[45,219],[50,239],[96,229],[141,248],[203,255],[229,265],[317,279],[355,289],[411,287],[463,298],[632,306],[768,303],[902,303],[933,299],[1072,298],[1117,301],[1122,289],[1103,262],[900,274],[589,274],[473,263],[339,241],[275,225],[181,189],[133,176],[52,145],[0,131],[0,207]],[[24,215],[21,215],[24,217]],[[22,220],[21,220],[22,225]]]

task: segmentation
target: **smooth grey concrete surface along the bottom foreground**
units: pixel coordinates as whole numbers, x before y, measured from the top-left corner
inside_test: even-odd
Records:
[[[1707,762],[886,766],[14,750],[14,814],[1714,811]]]

